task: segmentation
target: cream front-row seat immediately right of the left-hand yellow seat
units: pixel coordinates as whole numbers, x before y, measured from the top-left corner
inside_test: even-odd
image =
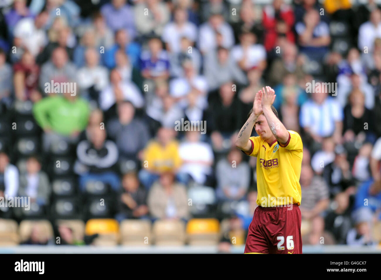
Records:
[[[124,220],[120,223],[122,245],[150,245],[151,222],[149,220]]]

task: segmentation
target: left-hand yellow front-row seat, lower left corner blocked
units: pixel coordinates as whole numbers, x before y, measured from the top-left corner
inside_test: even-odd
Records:
[[[119,224],[114,219],[90,219],[86,222],[85,233],[99,234],[93,241],[96,246],[115,246],[119,241]]]

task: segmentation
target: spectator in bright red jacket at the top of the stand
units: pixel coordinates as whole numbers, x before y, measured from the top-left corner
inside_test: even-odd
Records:
[[[285,36],[288,41],[295,42],[292,27],[295,23],[294,12],[283,0],[274,0],[272,5],[263,8],[262,24],[265,29],[264,47],[266,51],[272,50],[278,36]]]

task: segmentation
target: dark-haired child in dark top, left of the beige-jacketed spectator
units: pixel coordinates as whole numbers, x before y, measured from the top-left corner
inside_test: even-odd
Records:
[[[115,219],[121,222],[124,219],[147,217],[147,193],[139,187],[136,173],[130,172],[123,175],[122,188],[118,195],[118,213]]]

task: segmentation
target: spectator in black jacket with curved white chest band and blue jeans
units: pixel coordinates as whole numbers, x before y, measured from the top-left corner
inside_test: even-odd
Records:
[[[106,130],[91,127],[90,141],[82,140],[77,146],[74,172],[79,175],[80,190],[84,192],[89,181],[101,181],[118,191],[120,182],[115,172],[118,157],[118,147],[113,141],[106,140]]]

